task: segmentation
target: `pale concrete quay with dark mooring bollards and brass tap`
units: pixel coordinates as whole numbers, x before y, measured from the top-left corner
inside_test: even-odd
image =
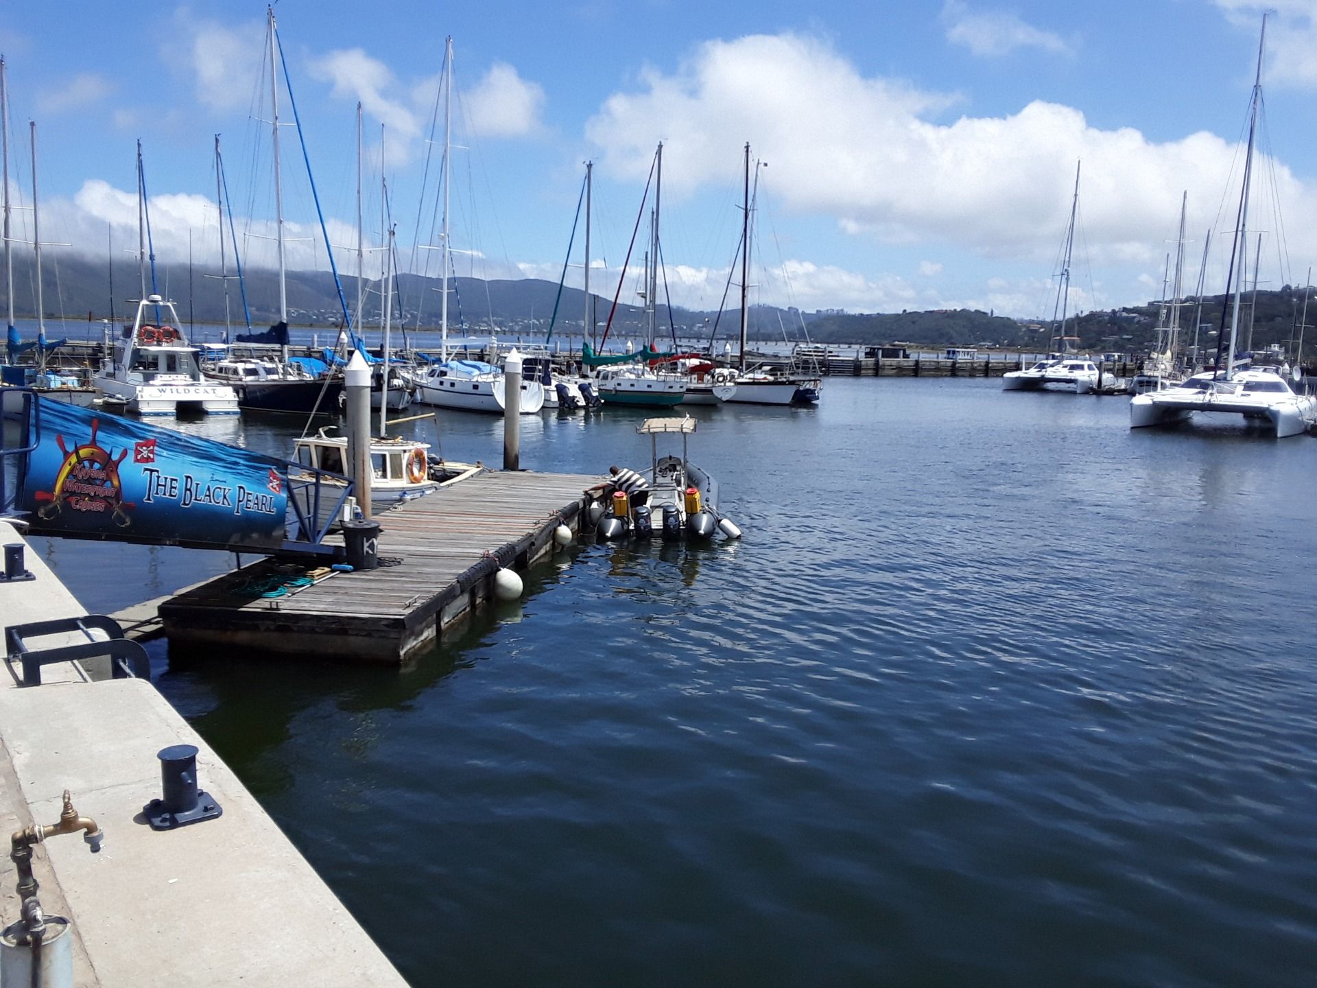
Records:
[[[0,544],[18,541],[0,522]],[[4,626],[86,614],[36,553],[25,564],[34,580],[0,582]],[[155,831],[142,808],[161,796],[157,752],[173,744],[196,746],[199,784],[224,813]],[[76,835],[34,848],[46,914],[72,921],[76,985],[406,984],[149,681],[87,681],[72,664],[45,667],[40,686],[0,677],[0,826],[55,822],[65,789],[105,834],[99,854]],[[18,918],[16,880],[0,865],[3,925]]]

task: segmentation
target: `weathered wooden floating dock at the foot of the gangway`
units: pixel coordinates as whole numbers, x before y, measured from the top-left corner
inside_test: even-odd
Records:
[[[375,514],[378,569],[261,589],[287,573],[261,560],[159,605],[170,644],[213,653],[253,648],[402,663],[494,595],[498,568],[525,569],[552,551],[553,530],[578,531],[579,474],[486,470]]]

